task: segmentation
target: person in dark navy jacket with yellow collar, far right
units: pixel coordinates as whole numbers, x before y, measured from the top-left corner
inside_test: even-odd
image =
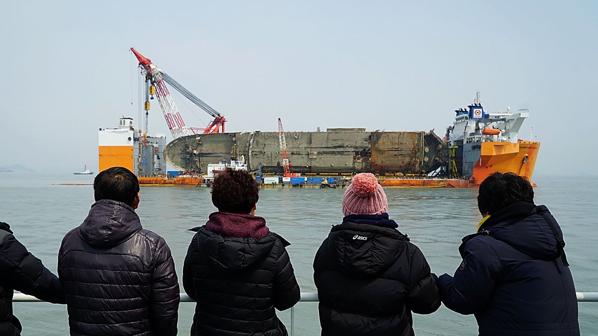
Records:
[[[478,231],[463,238],[463,261],[438,280],[450,310],[474,314],[481,336],[579,335],[575,286],[563,233],[533,188],[514,173],[480,185]]]

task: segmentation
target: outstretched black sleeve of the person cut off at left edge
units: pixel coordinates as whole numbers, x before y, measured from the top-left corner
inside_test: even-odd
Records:
[[[0,233],[0,279],[10,288],[39,300],[66,303],[58,277],[7,231]]]

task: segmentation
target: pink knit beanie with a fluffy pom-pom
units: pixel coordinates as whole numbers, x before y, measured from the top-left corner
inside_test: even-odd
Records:
[[[379,215],[388,211],[388,201],[382,186],[372,173],[355,175],[344,192],[343,214]]]

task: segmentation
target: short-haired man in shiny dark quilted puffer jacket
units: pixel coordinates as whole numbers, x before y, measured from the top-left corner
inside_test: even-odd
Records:
[[[93,190],[96,203],[58,255],[71,335],[176,335],[175,263],[164,239],[141,227],[137,177],[112,167]]]

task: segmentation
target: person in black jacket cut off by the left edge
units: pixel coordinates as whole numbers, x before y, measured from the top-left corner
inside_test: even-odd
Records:
[[[13,290],[39,300],[65,304],[58,278],[19,240],[10,225],[0,222],[0,335],[19,336],[21,323],[13,315]]]

